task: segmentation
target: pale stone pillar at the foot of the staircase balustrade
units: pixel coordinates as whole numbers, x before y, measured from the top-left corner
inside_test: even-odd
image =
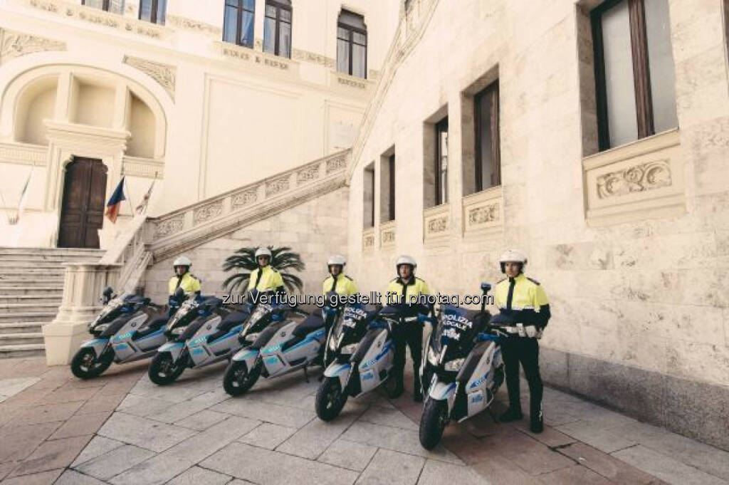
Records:
[[[117,282],[121,265],[66,263],[63,299],[55,320],[43,327],[47,365],[71,362],[82,341],[90,338],[87,324],[101,310],[101,293]]]

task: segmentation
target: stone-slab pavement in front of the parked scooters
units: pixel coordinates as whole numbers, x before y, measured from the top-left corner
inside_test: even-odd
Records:
[[[169,387],[149,382],[146,366],[79,381],[42,359],[0,362],[1,483],[729,484],[726,451],[553,389],[541,435],[482,414],[425,451],[409,393],[350,400],[324,423],[316,373],[261,379],[230,398],[224,365],[186,370]]]

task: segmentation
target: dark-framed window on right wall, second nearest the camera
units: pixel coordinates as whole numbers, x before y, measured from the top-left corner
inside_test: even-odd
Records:
[[[474,96],[475,191],[501,185],[499,81]]]

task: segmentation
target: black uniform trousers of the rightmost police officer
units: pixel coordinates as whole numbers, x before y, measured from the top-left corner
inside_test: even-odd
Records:
[[[529,412],[531,415],[542,409],[542,376],[539,375],[539,343],[536,338],[513,336],[502,340],[506,386],[509,392],[509,407],[521,411],[519,392],[519,362],[529,384]]]

